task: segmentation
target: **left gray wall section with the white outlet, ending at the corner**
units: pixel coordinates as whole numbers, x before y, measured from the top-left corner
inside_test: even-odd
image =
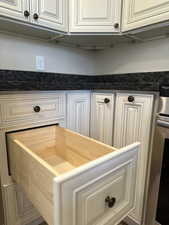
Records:
[[[94,74],[93,54],[39,40],[0,34],[0,69],[36,71],[35,58],[45,56],[46,71]]]

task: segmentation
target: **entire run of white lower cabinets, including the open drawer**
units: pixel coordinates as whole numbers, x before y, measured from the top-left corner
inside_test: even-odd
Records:
[[[117,225],[133,208],[131,218],[141,221],[153,95],[119,93],[115,106],[112,93],[90,98],[90,91],[0,96],[5,225],[40,215],[49,225]],[[108,145],[114,136],[117,148],[83,136],[90,105],[91,136]],[[65,120],[83,135],[61,128]]]

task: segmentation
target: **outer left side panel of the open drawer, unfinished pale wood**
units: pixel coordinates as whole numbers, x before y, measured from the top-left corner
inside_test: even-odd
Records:
[[[10,171],[14,181],[25,191],[28,199],[49,225],[53,225],[53,178],[42,162],[29,154],[17,141],[8,139]]]

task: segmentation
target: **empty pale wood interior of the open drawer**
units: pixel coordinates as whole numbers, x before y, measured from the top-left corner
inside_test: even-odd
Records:
[[[8,139],[45,161],[56,175],[112,152],[108,146],[59,126],[11,133]]]

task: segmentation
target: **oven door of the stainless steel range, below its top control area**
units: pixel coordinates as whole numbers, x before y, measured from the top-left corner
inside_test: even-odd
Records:
[[[162,223],[162,221],[166,220],[164,217],[168,216],[168,208],[166,208],[167,205],[162,200],[164,189],[161,188],[160,184],[162,183],[162,177],[164,177],[162,171],[167,146],[169,147],[169,122],[157,120],[151,158],[145,225],[166,224],[164,222]]]

